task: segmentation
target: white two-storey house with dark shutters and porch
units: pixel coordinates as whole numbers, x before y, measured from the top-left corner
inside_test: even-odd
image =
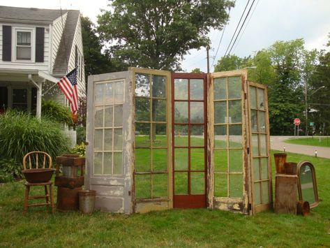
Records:
[[[66,104],[55,85],[77,66],[86,94],[79,10],[0,6],[0,112],[20,108],[40,116],[41,97]]]

